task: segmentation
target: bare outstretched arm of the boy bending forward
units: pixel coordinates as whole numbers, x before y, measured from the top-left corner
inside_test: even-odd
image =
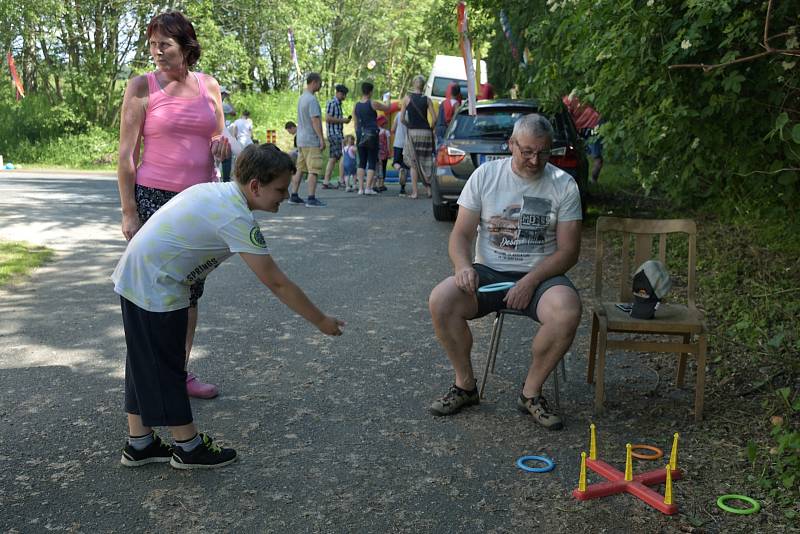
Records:
[[[303,290],[283,274],[272,256],[261,254],[248,254],[241,252],[239,255],[250,269],[256,273],[258,279],[272,291],[281,302],[300,314],[303,319],[313,324],[329,336],[340,336],[344,321],[325,315],[303,293]]]

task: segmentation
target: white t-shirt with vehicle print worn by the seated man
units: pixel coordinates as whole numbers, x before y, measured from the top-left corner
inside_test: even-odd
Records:
[[[475,263],[496,271],[528,272],[556,251],[556,224],[581,220],[581,198],[572,176],[547,164],[525,179],[511,158],[478,167],[458,204],[481,214]]]

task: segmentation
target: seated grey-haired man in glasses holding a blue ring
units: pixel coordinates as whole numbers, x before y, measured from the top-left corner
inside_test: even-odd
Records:
[[[572,177],[547,163],[552,141],[547,118],[520,118],[509,140],[511,157],[478,167],[458,199],[448,247],[455,274],[434,288],[429,303],[436,337],[456,376],[450,390],[431,405],[434,415],[451,415],[480,402],[467,321],[511,308],[541,324],[518,407],[545,428],[563,427],[541,391],[572,344],[581,318],[580,297],[565,276],[580,252],[581,203]],[[515,285],[505,292],[477,292],[507,281]]]

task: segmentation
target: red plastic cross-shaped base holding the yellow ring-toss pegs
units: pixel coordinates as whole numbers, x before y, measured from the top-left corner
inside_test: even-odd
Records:
[[[647,486],[663,484],[667,479],[666,469],[654,469],[640,475],[635,475],[630,482],[625,480],[625,474],[617,471],[602,460],[586,459],[586,467],[602,476],[608,482],[600,482],[586,486],[586,491],[574,490],[572,496],[579,501],[608,497],[617,493],[628,492],[649,504],[659,512],[672,515],[678,512],[677,504],[664,504],[664,496]],[[680,480],[682,474],[679,469],[671,470],[672,480]]]

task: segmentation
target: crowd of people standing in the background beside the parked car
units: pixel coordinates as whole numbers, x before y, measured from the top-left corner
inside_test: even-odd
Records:
[[[350,89],[344,84],[334,86],[334,95],[325,104],[325,114],[316,93],[322,87],[322,78],[312,72],[306,76],[306,87],[298,100],[297,122],[287,121],[284,129],[292,136],[292,149],[288,152],[297,165],[297,173],[290,187],[289,204],[324,207],[316,196],[317,180],[322,176],[322,189],[344,189],[359,195],[377,195],[388,191],[386,177],[389,161],[397,173],[400,196],[421,198],[419,184],[423,184],[427,198],[431,197],[431,177],[436,168],[436,150],[441,146],[447,127],[464,101],[461,86],[450,83],[438,112],[430,97],[424,95],[425,78],[415,76],[400,103],[373,98],[374,85],[363,82],[353,115],[344,116],[342,104]],[[494,98],[494,89],[484,83],[478,90],[478,99]],[[225,127],[231,138],[242,148],[258,140],[253,137],[254,126],[250,112],[236,111],[230,103],[230,93],[221,88]],[[322,135],[324,119],[327,136]],[[391,123],[390,123],[391,121]],[[351,139],[344,134],[344,125],[353,122],[355,134]],[[299,144],[298,144],[299,139]],[[322,161],[327,148],[327,163]],[[231,180],[233,157],[218,161],[223,182]],[[337,169],[338,167],[338,169]],[[335,171],[338,170],[338,173]],[[338,179],[333,180],[335,174]],[[406,191],[409,178],[411,192]],[[307,181],[308,198],[299,195],[303,179]]]

